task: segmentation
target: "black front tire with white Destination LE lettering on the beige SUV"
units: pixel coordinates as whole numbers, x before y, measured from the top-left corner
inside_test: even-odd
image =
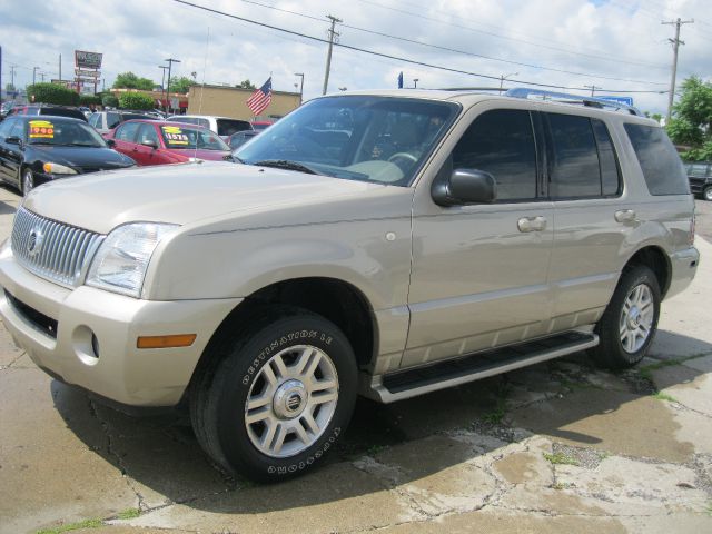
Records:
[[[196,436],[211,459],[228,473],[241,474],[258,482],[278,482],[305,474],[320,464],[326,453],[334,448],[336,439],[346,429],[352,417],[357,394],[354,352],[336,325],[300,308],[267,308],[247,326],[231,339],[224,338],[209,348],[216,352],[208,355],[215,363],[202,369],[201,375],[191,384],[190,418]],[[291,350],[299,354],[305,346],[317,349],[315,354],[328,356],[328,362],[333,364],[329,368],[335,369],[330,379],[333,382],[335,378],[337,384],[337,398],[329,405],[313,407],[317,414],[312,418],[313,422],[318,418],[322,409],[327,409],[323,406],[327,406],[330,414],[330,418],[323,423],[320,434],[314,432],[314,436],[309,436],[314,439],[313,443],[307,445],[296,435],[288,436],[296,441],[290,442],[293,446],[305,446],[304,451],[285,457],[270,456],[258,448],[255,443],[255,426],[246,423],[247,402],[255,398],[250,395],[259,380],[264,382],[265,374],[274,369],[274,358],[278,355],[286,358]],[[265,369],[268,365],[271,367]],[[295,380],[285,379],[280,387],[288,386],[287,382]],[[271,411],[270,419],[266,423],[274,424],[277,421],[277,427],[281,427],[283,422],[278,421],[280,414],[277,413],[280,407],[277,393],[273,396],[267,383],[264,384],[265,394],[261,396],[270,398],[265,409]],[[276,389],[279,390],[280,387]],[[309,392],[304,397],[301,409],[306,415],[312,409],[309,402],[315,398],[315,394]],[[300,415],[290,417],[287,422],[293,424],[296,419],[301,421]],[[265,433],[267,428],[265,426]],[[265,434],[263,437],[267,439]],[[284,438],[284,443],[285,448],[288,448],[287,438]]]

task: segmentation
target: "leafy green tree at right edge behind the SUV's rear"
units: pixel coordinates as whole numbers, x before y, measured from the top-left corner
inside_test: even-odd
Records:
[[[692,76],[682,82],[682,95],[673,106],[666,126],[676,145],[691,147],[683,158],[691,161],[712,159],[712,83]]]

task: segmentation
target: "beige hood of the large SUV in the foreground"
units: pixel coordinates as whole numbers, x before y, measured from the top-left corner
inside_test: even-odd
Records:
[[[409,197],[412,191],[290,170],[204,161],[59,180],[32,190],[24,207],[43,217],[107,234],[131,221],[191,225],[234,219],[226,216],[238,212],[250,215],[238,226],[345,220],[363,216],[384,195]],[[338,206],[338,199],[349,199],[353,212],[318,208],[329,200]],[[409,200],[404,200],[407,214]]]

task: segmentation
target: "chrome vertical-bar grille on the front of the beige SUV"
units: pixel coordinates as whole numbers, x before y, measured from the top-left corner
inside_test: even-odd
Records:
[[[12,228],[12,253],[26,269],[63,286],[77,286],[103,236],[46,219],[20,208]]]

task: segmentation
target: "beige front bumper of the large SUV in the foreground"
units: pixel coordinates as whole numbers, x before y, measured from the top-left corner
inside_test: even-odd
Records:
[[[210,337],[243,300],[154,301],[88,286],[71,290],[29,273],[9,249],[0,258],[0,316],[39,367],[131,406],[176,405]],[[174,334],[197,337],[189,347],[137,348],[139,336]]]

